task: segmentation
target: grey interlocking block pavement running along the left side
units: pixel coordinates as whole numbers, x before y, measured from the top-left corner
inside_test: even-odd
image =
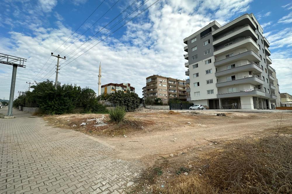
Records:
[[[115,158],[96,138],[13,114],[0,119],[0,193],[124,193],[139,177],[138,161]]]

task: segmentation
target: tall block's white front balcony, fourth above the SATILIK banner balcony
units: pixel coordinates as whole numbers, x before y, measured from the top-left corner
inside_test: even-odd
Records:
[[[259,51],[258,44],[250,37],[244,37],[239,40],[229,42],[228,44],[225,44],[223,46],[219,46],[217,48],[214,48],[214,55],[218,55],[219,53],[223,53],[228,50],[235,50],[237,48],[248,48],[248,46],[253,45],[253,48],[257,51]]]

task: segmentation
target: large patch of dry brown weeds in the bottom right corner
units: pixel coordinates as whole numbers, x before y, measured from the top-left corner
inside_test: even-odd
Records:
[[[191,165],[154,193],[292,193],[291,137],[234,140]]]

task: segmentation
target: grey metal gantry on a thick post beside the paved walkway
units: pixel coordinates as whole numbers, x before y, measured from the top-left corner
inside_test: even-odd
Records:
[[[9,106],[8,106],[8,113],[7,113],[8,117],[13,117],[12,108],[13,108],[13,97],[14,97],[15,81],[16,81],[16,70],[17,70],[17,67],[25,68],[26,67],[26,65],[24,64],[25,62],[26,62],[25,58],[0,53],[0,63],[13,66],[9,104],[8,104]]]

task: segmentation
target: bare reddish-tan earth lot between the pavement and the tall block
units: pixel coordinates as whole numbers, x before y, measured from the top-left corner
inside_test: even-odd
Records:
[[[70,128],[92,134],[99,141],[120,150],[117,157],[140,159],[151,164],[160,156],[182,155],[190,150],[201,150],[202,146],[216,146],[220,142],[260,136],[277,128],[281,113],[225,112],[226,117],[216,116],[217,111],[178,111],[180,115],[170,115],[168,111],[140,110],[128,112],[127,119],[145,122],[145,126],[135,130],[125,130],[120,135],[100,135],[114,124],[107,118],[108,126],[93,127],[87,119],[99,118],[101,114],[70,114],[45,117],[56,127]],[[106,115],[107,116],[107,115]],[[292,114],[283,113],[282,127],[291,128]],[[82,122],[89,123],[79,126]],[[190,122],[191,124],[188,124]],[[92,122],[94,123],[94,122]],[[72,127],[76,124],[77,127]],[[88,127],[88,129],[86,129]],[[123,136],[125,135],[125,136]]]

